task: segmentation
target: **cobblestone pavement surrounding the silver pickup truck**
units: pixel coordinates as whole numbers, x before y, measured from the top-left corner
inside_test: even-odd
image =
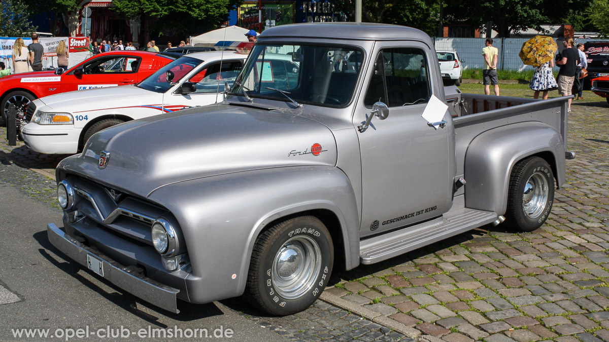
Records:
[[[526,85],[501,91],[532,96]],[[322,294],[325,302],[284,318],[232,307],[292,340],[609,341],[609,106],[589,91],[584,97],[569,116],[568,146],[577,158],[567,161],[565,187],[537,231],[485,226],[339,273]],[[52,181],[12,161],[52,173],[55,156],[39,164],[16,153],[22,148],[7,148],[0,138],[0,156],[10,159],[0,158],[0,181],[44,199],[41,189],[54,189]],[[12,168],[19,171],[5,172]]]

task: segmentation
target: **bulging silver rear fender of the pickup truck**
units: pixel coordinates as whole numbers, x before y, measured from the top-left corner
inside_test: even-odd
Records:
[[[522,122],[480,134],[465,154],[465,206],[505,214],[510,175],[516,162],[549,154],[553,158],[546,161],[560,188],[565,182],[565,145],[557,130],[541,122]]]

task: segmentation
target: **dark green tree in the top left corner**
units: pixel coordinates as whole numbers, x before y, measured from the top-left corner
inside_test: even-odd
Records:
[[[2,0],[0,13],[0,36],[23,37],[35,32],[27,15],[27,5],[23,0]]]

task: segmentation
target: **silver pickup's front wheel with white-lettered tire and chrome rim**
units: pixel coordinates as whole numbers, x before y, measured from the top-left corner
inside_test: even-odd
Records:
[[[244,297],[272,315],[300,312],[322,294],[333,262],[326,226],[312,216],[290,218],[256,239]]]

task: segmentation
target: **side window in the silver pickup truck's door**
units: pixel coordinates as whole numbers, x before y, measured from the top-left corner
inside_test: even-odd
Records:
[[[426,103],[431,97],[428,61],[421,49],[384,49],[372,71],[364,105],[381,101],[387,106]]]

